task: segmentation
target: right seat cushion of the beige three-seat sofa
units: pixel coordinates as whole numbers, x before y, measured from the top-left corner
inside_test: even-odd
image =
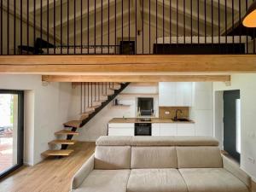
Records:
[[[223,168],[179,169],[189,192],[248,192],[247,186]]]

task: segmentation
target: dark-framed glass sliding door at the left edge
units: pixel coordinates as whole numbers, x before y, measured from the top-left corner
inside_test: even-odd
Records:
[[[23,164],[23,95],[0,90],[0,178]]]

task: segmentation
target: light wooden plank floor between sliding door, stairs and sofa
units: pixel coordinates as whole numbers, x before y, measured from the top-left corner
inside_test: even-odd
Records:
[[[68,157],[47,158],[36,166],[22,166],[0,180],[0,191],[69,192],[74,173],[94,153],[95,143],[79,142],[70,148],[74,152]]]

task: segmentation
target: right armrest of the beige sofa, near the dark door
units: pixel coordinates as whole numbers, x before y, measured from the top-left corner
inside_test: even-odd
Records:
[[[242,183],[245,183],[247,185],[248,189],[251,189],[251,177],[249,177],[246,172],[241,170],[238,163],[236,163],[235,160],[232,160],[230,157],[224,154],[222,154],[222,159],[224,169],[239,178]]]

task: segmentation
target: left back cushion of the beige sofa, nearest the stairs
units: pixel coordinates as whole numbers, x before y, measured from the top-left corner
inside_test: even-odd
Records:
[[[130,146],[96,146],[95,169],[130,169]]]

